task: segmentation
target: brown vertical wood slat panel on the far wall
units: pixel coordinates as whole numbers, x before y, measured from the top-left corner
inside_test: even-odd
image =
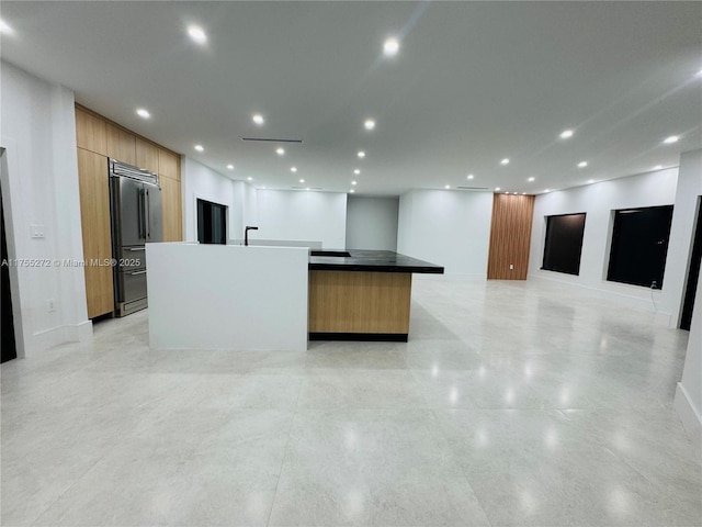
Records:
[[[533,195],[494,195],[488,280],[526,280],[533,214]]]

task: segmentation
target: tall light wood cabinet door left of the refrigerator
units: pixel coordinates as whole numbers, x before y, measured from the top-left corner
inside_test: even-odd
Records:
[[[114,311],[112,267],[91,265],[112,258],[107,178],[107,158],[78,148],[80,216],[89,318]]]

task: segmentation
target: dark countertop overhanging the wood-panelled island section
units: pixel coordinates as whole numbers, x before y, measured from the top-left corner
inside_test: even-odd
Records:
[[[314,256],[309,253],[310,271],[374,271],[443,274],[443,267],[398,255],[392,250],[325,249],[321,253],[348,253],[351,256]]]

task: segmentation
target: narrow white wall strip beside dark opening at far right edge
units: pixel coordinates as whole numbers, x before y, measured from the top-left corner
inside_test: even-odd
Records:
[[[670,326],[678,327],[688,283],[690,253],[699,197],[702,194],[702,149],[686,152],[680,156],[678,189],[672,211],[668,259],[666,260],[666,288],[663,303],[670,311]]]

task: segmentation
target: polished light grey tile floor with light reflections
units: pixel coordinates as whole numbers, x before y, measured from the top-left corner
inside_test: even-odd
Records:
[[[687,334],[650,313],[419,277],[408,344],[157,352],[147,325],[2,365],[2,526],[702,525]]]

